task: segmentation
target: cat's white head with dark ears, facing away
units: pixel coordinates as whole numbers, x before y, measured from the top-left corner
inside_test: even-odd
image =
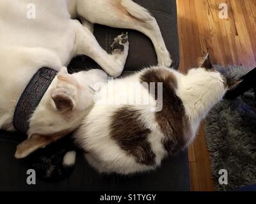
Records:
[[[188,71],[180,83],[179,96],[184,102],[189,118],[201,120],[225,93],[239,84],[239,78],[225,68],[214,68],[209,54],[198,68]]]

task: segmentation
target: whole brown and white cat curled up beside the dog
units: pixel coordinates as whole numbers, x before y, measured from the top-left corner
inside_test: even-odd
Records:
[[[100,173],[124,175],[154,170],[188,147],[205,115],[234,86],[209,57],[186,75],[152,67],[109,83],[74,136]]]

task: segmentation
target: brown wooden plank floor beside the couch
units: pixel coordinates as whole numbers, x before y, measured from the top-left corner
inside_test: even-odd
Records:
[[[219,17],[226,3],[228,18]],[[210,53],[214,64],[256,67],[256,0],[177,0],[180,70],[196,67]],[[204,124],[189,148],[191,189],[214,191]]]

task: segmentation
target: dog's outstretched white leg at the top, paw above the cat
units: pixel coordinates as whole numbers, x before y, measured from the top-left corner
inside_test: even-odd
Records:
[[[133,1],[77,0],[77,13],[79,17],[86,18],[93,24],[140,31],[152,40],[159,65],[171,66],[172,59],[156,19],[145,8]]]

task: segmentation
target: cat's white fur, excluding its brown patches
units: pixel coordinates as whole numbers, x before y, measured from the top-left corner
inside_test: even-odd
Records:
[[[150,69],[161,68],[156,67]],[[148,90],[145,89],[143,85],[138,89],[141,89],[141,92],[146,92],[148,97],[152,99],[150,100],[152,102],[148,105],[142,105],[143,103],[141,103],[141,105],[131,105],[130,107],[140,110],[140,120],[151,130],[151,133],[148,135],[148,141],[156,155],[155,165],[147,166],[137,163],[133,156],[127,154],[127,152],[111,138],[110,126],[111,122],[113,122],[113,115],[117,110],[126,106],[122,105],[121,96],[124,97],[127,95],[128,97],[131,94],[136,95],[135,92],[128,92],[122,89],[121,84],[129,84],[131,82],[140,83],[141,75],[147,70],[148,69],[144,69],[131,77],[114,81],[114,87],[116,88],[111,89],[114,90],[112,96],[118,96],[116,99],[119,99],[119,101],[115,102],[119,102],[121,105],[109,105],[108,101],[111,101],[111,99],[109,99],[111,94],[106,94],[109,91],[109,85],[106,84],[103,86],[98,94],[97,102],[93,105],[90,113],[84,118],[82,126],[76,131],[74,136],[76,142],[86,151],[85,157],[88,162],[100,173],[115,172],[129,174],[153,170],[157,168],[164,157],[168,155],[168,152],[164,150],[163,144],[161,143],[164,135],[157,125],[154,117],[155,113],[151,111],[152,106],[156,106],[156,101],[148,94]],[[204,68],[198,68],[191,69],[187,75],[183,75],[174,69],[166,70],[172,73],[177,79],[176,94],[182,101],[189,126],[191,127],[191,134],[187,135],[187,146],[189,143],[193,142],[202,119],[204,119],[212,106],[220,101],[227,91],[227,87],[225,86],[225,81],[221,74],[216,71],[207,71]],[[141,101],[143,97],[140,95],[137,96],[138,101]],[[170,115],[172,114],[170,113]],[[127,129],[124,129],[123,134],[125,135],[126,132]]]

